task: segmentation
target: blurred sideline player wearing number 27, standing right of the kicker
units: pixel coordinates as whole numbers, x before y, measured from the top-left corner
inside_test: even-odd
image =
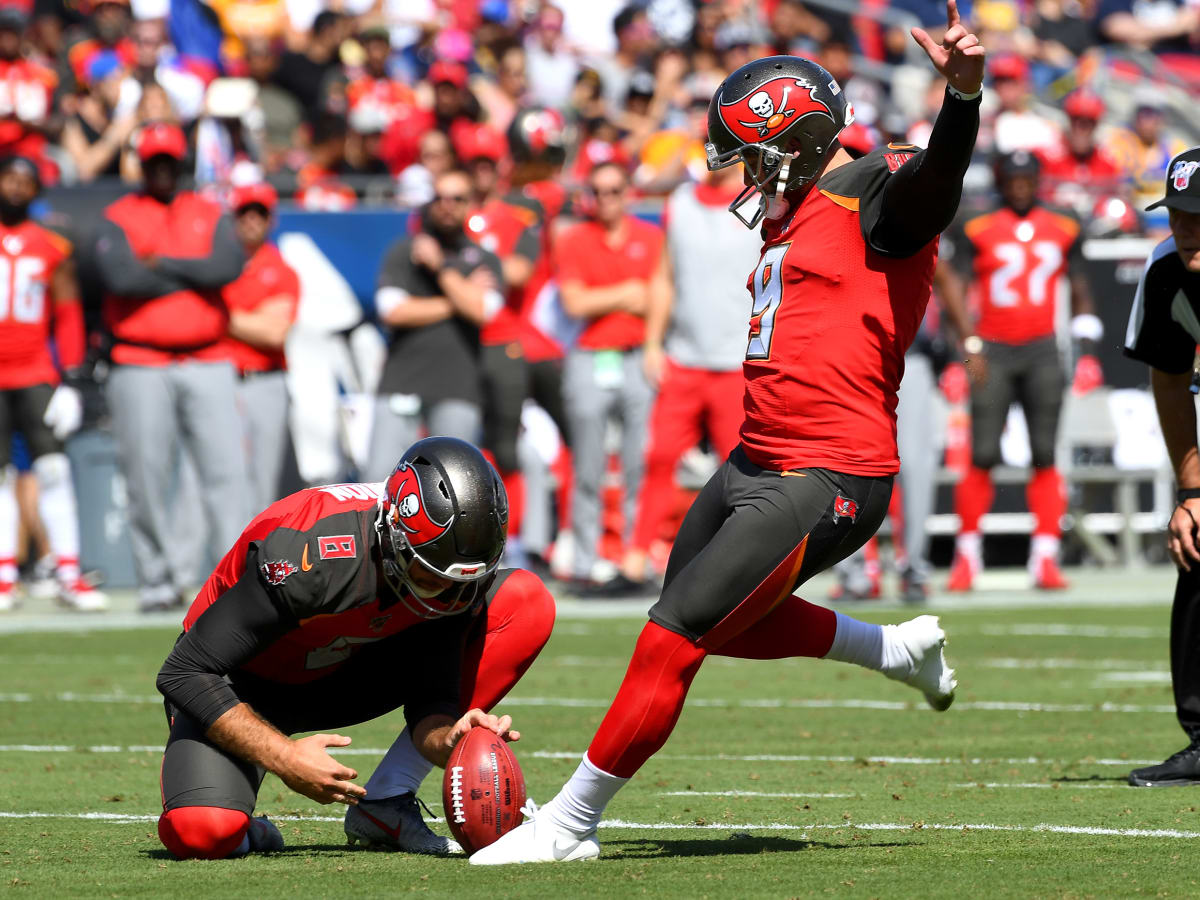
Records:
[[[962,221],[949,235],[953,264],[944,257],[938,263],[949,304],[964,306],[967,281],[979,290],[978,319],[964,341],[971,373],[971,468],[954,491],[960,524],[949,590],[971,590],[983,569],[979,520],[991,509],[990,472],[1001,462],[1000,438],[1013,401],[1025,413],[1033,463],[1026,486],[1034,518],[1030,576],[1038,588],[1067,587],[1058,569],[1067,498],[1055,467],[1064,389],[1055,312],[1064,276],[1070,289],[1070,335],[1079,342],[1075,388],[1080,392],[1103,380],[1094,354],[1104,329],[1084,272],[1080,224],[1039,202],[1039,172],[1031,152],[997,157],[998,206]]]

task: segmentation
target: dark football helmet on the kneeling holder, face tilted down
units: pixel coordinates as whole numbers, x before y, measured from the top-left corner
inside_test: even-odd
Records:
[[[433,619],[464,612],[473,584],[496,571],[504,552],[509,500],[491,463],[457,438],[418,440],[385,482],[376,530],[384,578],[412,612]],[[422,588],[413,566],[456,582]]]

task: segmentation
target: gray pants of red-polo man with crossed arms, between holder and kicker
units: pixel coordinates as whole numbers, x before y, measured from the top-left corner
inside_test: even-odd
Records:
[[[620,463],[625,491],[625,536],[632,535],[637,496],[642,487],[646,431],[654,406],[654,389],[642,371],[642,350],[620,354],[616,370],[598,368],[596,353],[574,349],[563,367],[563,401],[571,428],[575,490],[571,530],[575,533],[575,575],[588,578],[600,541],[600,490],[607,464],[605,434],[608,419],[622,422]]]

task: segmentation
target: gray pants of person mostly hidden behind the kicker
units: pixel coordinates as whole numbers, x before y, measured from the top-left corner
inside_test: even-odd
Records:
[[[932,436],[938,433],[937,379],[934,364],[923,353],[910,353],[904,361],[904,380],[896,394],[896,446],[900,452],[900,500],[904,508],[904,551],[907,574],[917,583],[929,578],[929,532],[925,523],[934,511],[934,479],[941,460],[940,448]],[[836,566],[842,583],[852,590],[865,590],[866,554],[859,548]]]

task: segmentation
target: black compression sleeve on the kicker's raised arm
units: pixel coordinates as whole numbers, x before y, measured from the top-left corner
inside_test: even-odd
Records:
[[[883,187],[871,246],[888,256],[912,256],[954,220],[962,175],[979,131],[979,98],[958,100],[947,90],[929,148],[901,166]]]

